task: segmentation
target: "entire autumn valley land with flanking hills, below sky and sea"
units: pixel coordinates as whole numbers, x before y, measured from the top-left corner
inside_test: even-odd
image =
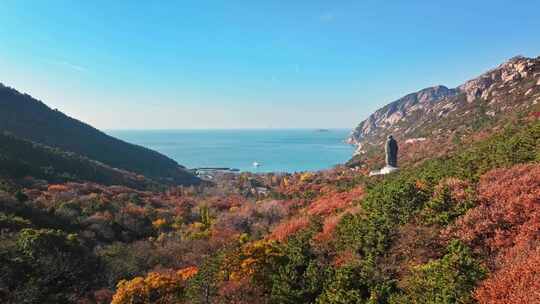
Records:
[[[0,299],[539,302],[539,100],[516,57],[381,108],[347,164],[201,180],[1,87]]]

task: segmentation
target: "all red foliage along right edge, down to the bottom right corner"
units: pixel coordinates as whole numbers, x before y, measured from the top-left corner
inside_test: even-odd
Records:
[[[486,173],[480,204],[445,232],[482,254],[491,275],[475,291],[479,303],[540,303],[540,165]]]

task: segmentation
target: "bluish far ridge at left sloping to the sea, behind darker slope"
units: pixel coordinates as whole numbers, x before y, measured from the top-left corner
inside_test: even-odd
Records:
[[[111,137],[39,100],[0,84],[0,131],[132,171],[165,183],[193,184],[198,179],[174,160]],[[102,109],[106,111],[106,109]]]

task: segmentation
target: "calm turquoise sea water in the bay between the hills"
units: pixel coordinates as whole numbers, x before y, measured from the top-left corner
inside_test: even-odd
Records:
[[[115,130],[112,136],[159,151],[188,168],[298,172],[346,162],[349,130]],[[258,162],[261,166],[254,167]]]

